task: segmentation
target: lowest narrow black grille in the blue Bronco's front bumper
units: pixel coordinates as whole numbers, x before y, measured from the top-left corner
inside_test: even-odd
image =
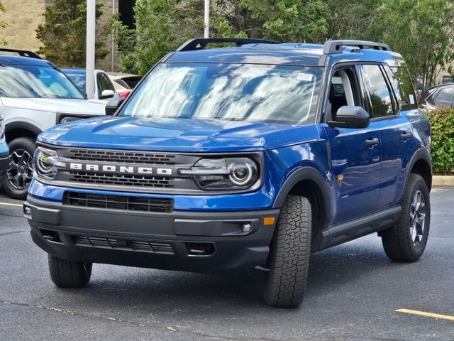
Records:
[[[150,240],[120,239],[116,237],[72,236],[74,244],[83,247],[148,251],[155,254],[175,254],[172,245]]]

